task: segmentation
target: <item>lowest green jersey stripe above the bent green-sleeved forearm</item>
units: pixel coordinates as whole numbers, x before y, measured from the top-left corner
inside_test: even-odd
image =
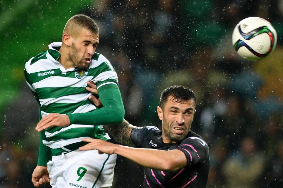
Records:
[[[78,107],[90,104],[91,100],[87,99],[79,103],[51,103],[50,105],[43,105],[42,110],[46,113],[67,114],[73,113]]]

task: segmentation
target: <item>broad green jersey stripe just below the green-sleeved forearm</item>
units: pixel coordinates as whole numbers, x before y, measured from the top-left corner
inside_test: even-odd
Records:
[[[93,127],[76,127],[63,132],[57,133],[52,137],[45,138],[45,141],[57,141],[57,140],[68,140],[70,138],[79,138],[79,137],[94,137]]]

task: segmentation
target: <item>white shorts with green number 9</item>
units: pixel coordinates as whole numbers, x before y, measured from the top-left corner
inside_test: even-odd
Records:
[[[112,186],[116,154],[75,150],[53,156],[47,163],[52,188],[98,188]]]

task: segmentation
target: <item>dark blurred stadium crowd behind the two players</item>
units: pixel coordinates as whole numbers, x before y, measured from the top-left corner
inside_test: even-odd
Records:
[[[283,187],[282,0],[98,0],[80,13],[98,23],[96,51],[118,74],[131,124],[161,128],[161,91],[188,86],[197,95],[192,130],[210,147],[207,187]],[[233,28],[251,16],[269,20],[278,35],[273,54],[256,62],[231,44]],[[33,187],[37,103],[24,82],[18,95],[3,112],[3,188]],[[142,179],[142,167],[118,157],[113,187],[141,187]]]

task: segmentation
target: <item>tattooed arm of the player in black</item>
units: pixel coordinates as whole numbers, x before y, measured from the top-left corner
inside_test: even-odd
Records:
[[[113,136],[116,142],[130,147],[136,147],[131,141],[131,131],[135,126],[123,121],[121,124],[105,125],[103,128]]]

